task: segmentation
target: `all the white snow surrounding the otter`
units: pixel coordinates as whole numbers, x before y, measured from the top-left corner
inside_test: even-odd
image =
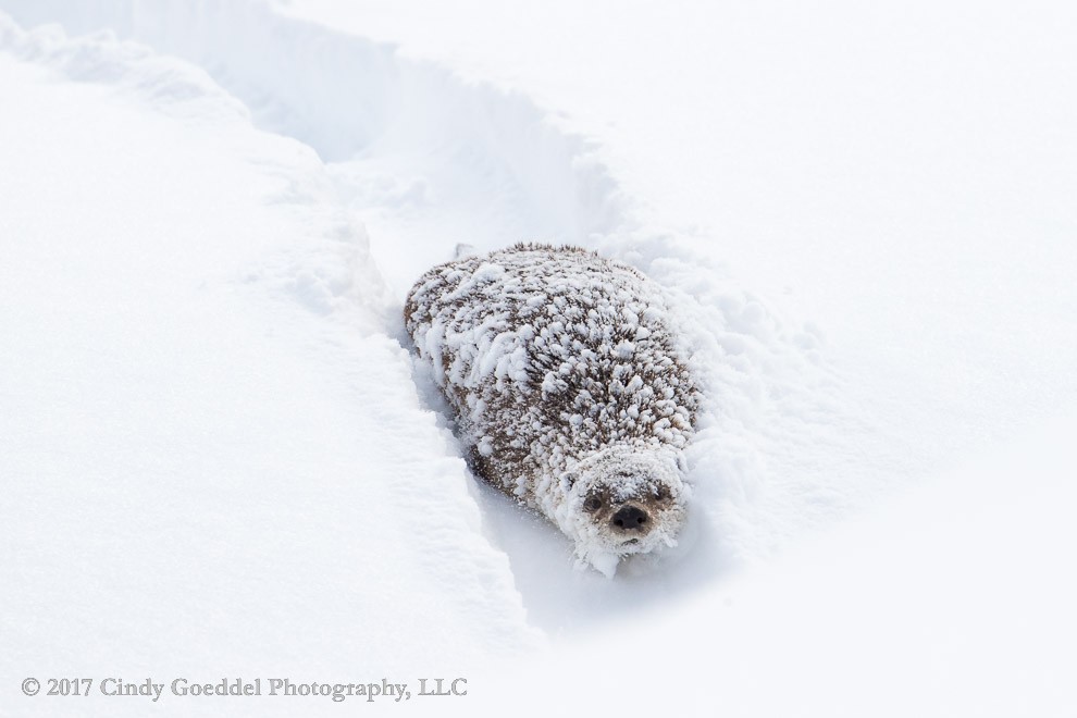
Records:
[[[16,688],[121,673],[601,710],[626,632],[641,708],[1072,707],[1070,5],[4,12],[3,713],[144,715]],[[406,349],[418,276],[535,239],[660,284],[705,389],[686,532],[612,580]]]

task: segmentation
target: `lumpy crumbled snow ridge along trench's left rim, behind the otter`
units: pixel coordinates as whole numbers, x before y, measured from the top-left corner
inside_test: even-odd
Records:
[[[75,82],[109,87],[189,126],[227,127],[256,154],[250,113],[243,102],[202,69],[138,42],[120,41],[110,29],[76,37],[57,25],[24,30],[0,13],[0,50]],[[300,206],[302,211],[319,208],[318,221],[301,251],[281,248],[236,281],[269,284],[315,313],[339,309],[341,317],[361,331],[374,331],[384,324],[388,302],[366,230],[339,206],[323,164],[308,147],[288,138],[273,141],[276,154],[268,159],[261,153],[257,159],[263,172],[280,183],[270,203]]]

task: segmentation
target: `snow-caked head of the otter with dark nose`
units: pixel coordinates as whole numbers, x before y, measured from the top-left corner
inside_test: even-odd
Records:
[[[621,556],[677,544],[689,491],[669,449],[603,449],[566,471],[561,490],[558,522],[580,559],[604,573]]]

